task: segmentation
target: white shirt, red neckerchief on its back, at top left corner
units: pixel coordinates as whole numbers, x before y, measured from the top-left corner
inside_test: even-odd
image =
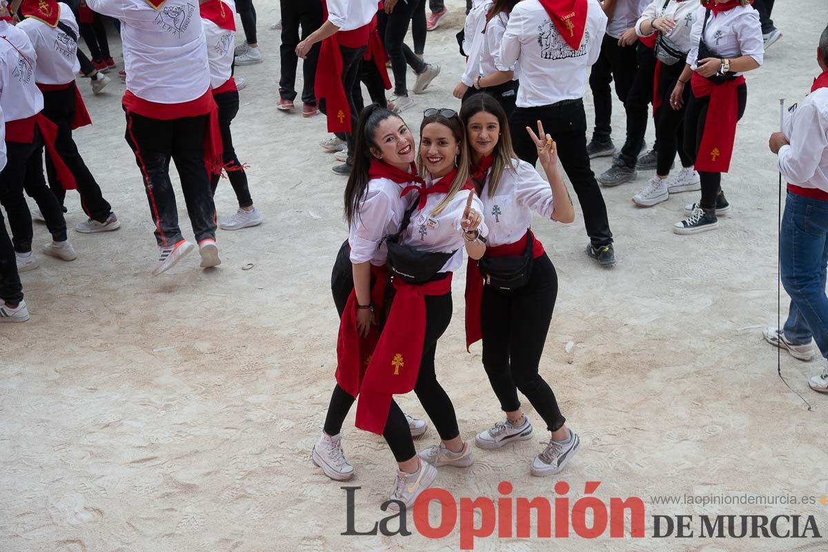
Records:
[[[57,5],[60,10],[60,22],[69,26],[79,37],[78,23],[75,15],[65,3]],[[34,17],[26,17],[17,27],[26,31],[31,46],[37,52],[35,80],[40,84],[67,84],[75,82],[75,75],[80,70],[78,61],[78,43],[59,27],[51,27]]]

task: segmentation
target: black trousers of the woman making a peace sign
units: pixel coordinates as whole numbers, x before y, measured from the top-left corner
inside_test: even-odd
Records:
[[[555,266],[544,253],[535,259],[526,286],[508,293],[484,286],[480,304],[483,367],[501,410],[520,408],[519,389],[550,431],[560,430],[566,418],[537,369],[557,295]]]

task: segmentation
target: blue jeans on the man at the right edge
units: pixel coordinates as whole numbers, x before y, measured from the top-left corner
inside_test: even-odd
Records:
[[[828,201],[787,193],[779,257],[782,286],[791,296],[785,338],[797,345],[814,338],[828,358]]]

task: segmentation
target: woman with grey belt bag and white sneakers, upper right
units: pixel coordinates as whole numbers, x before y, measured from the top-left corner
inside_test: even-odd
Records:
[[[696,2],[687,0],[654,0],[635,25],[638,36],[657,36],[656,55],[661,56],[656,61],[657,79],[652,95],[658,143],[656,175],[643,190],[633,195],[633,201],[642,207],[652,207],[667,201],[671,193],[698,190],[700,186],[699,175],[693,169],[694,159],[684,148],[683,104],[690,96],[690,89],[682,90],[681,106],[670,103],[690,51],[697,8]],[[668,178],[676,153],[681,160],[681,170],[675,177]]]

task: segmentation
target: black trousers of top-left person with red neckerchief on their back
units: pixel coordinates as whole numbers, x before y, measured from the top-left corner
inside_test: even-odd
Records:
[[[71,125],[72,119],[75,117],[75,87],[70,86],[63,90],[44,92],[43,114],[57,125],[55,149],[66,166],[69,167],[72,175],[75,176],[75,184],[78,186],[80,204],[84,209],[84,213],[99,223],[106,222],[109,214],[112,213],[112,206],[108,204],[106,199],[103,199],[103,193],[98,182],[95,181],[94,176],[84,163],[84,158],[80,156],[78,146],[72,138]],[[48,156],[46,156],[46,175],[49,177],[52,192],[55,193],[60,205],[63,205],[66,190],[60,185],[55,166],[52,165]]]

